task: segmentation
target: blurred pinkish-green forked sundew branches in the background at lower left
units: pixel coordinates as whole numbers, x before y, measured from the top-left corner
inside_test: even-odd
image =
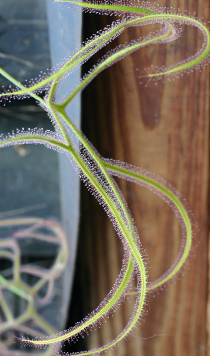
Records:
[[[56,221],[39,218],[10,218],[0,221],[0,228],[11,226],[19,227],[18,231],[13,233],[11,237],[0,240],[0,257],[7,258],[13,264],[11,268],[12,279],[7,280],[6,277],[0,275],[0,307],[2,316],[4,316],[0,323],[0,333],[7,336],[5,340],[2,339],[0,342],[2,356],[19,355],[17,350],[11,349],[14,343],[14,338],[8,339],[8,335],[11,332],[24,332],[32,337],[41,336],[42,333],[48,335],[55,333],[56,330],[39,315],[36,310],[36,304],[38,303],[41,306],[49,302],[54,289],[54,281],[65,268],[68,258],[66,238],[61,226]],[[45,233],[40,233],[41,229],[44,229]],[[40,268],[37,265],[21,264],[22,256],[19,241],[25,238],[50,242],[59,247],[54,264],[49,270]],[[39,277],[39,280],[31,286],[22,281],[22,273]],[[46,293],[44,296],[40,296],[39,292],[44,286],[47,287]],[[24,300],[26,304],[25,310],[23,312],[20,311],[18,315],[14,315],[14,305],[9,304],[11,298],[7,298],[7,294],[4,294],[5,292],[10,292],[10,294],[14,294]],[[29,321],[33,321],[35,327],[33,324],[29,326]],[[39,332],[37,326],[40,329]],[[48,349],[42,355],[51,356],[52,354],[52,350]]]

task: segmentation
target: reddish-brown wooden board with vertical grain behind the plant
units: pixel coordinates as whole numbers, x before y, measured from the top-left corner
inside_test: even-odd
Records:
[[[161,2],[209,20],[209,1]],[[95,32],[108,17],[85,15]],[[113,19],[113,18],[112,18]],[[145,29],[148,32],[149,28]],[[143,35],[127,30],[117,43]],[[169,65],[199,50],[202,37],[183,28],[175,43],[151,46],[133,53],[96,78],[83,93],[83,131],[106,158],[143,167],[177,189],[194,214],[198,231],[183,276],[159,293],[149,294],[144,320],[133,334],[108,356],[210,355],[208,289],[208,175],[209,82],[208,69],[181,75],[175,81],[148,83],[139,79],[150,64]],[[143,81],[140,85],[139,81]],[[180,247],[180,228],[167,204],[145,188],[118,180],[132,211],[148,256],[149,280],[173,263]],[[196,247],[195,247],[196,246]],[[108,293],[122,263],[121,243],[97,202],[82,190],[79,247],[81,290],[90,312]],[[208,294],[207,294],[208,292]],[[113,318],[90,334],[88,347],[107,343],[123,329],[132,312],[126,300]]]

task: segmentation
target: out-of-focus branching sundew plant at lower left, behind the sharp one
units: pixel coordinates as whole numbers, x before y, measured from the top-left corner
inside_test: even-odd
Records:
[[[28,355],[20,351],[15,339],[23,332],[38,337],[56,333],[56,306],[59,280],[68,259],[67,241],[60,224],[53,219],[10,218],[0,221],[1,229],[10,228],[12,234],[0,240],[0,350],[1,355]],[[40,248],[54,246],[51,259],[24,257],[24,246],[39,241]],[[49,308],[50,306],[50,308]],[[55,348],[57,351],[58,346]],[[54,351],[55,351],[54,349]],[[52,355],[52,350],[30,350],[34,355]]]

